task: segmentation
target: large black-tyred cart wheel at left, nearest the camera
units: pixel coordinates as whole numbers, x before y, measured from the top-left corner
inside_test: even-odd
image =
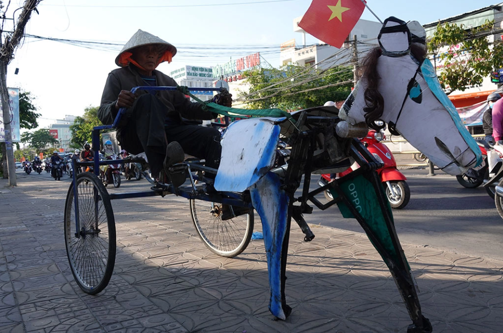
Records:
[[[65,244],[73,277],[84,292],[95,295],[110,281],[115,264],[115,221],[102,181],[90,172],[77,175],[79,230],[75,227],[74,183],[65,203]]]

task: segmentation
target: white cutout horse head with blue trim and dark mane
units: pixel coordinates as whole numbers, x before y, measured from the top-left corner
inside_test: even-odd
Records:
[[[383,120],[441,170],[459,175],[479,165],[481,153],[426,58],[425,37],[417,22],[387,18],[339,117],[370,127]]]

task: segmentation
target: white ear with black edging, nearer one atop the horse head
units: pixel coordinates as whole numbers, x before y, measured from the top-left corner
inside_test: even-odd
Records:
[[[410,52],[411,33],[407,24],[394,16],[388,17],[377,37],[383,55],[401,57]]]

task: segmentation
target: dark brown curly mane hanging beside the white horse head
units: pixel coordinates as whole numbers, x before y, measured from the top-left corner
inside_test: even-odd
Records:
[[[361,70],[367,78],[367,89],[365,90],[365,122],[373,130],[379,131],[383,126],[376,126],[375,120],[383,115],[384,98],[377,89],[379,87],[380,76],[377,73],[377,60],[383,54],[381,48],[372,49],[362,61]]]

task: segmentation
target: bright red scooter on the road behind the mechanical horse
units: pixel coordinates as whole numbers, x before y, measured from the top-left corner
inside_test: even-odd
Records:
[[[391,154],[391,151],[385,144],[380,142],[384,139],[384,130],[380,132],[371,130],[367,136],[361,138],[360,141],[367,147],[376,160],[384,163],[384,167],[376,171],[383,182],[386,196],[388,197],[391,207],[394,209],[403,209],[410,200],[409,185],[405,182],[407,177],[396,169],[396,161],[393,154]],[[345,176],[358,168],[359,165],[354,163],[349,169],[336,174],[336,176]],[[323,186],[330,182],[331,179],[331,174],[323,174],[319,180],[319,185]],[[325,191],[325,197],[328,200],[332,200],[332,194],[328,190]]]

